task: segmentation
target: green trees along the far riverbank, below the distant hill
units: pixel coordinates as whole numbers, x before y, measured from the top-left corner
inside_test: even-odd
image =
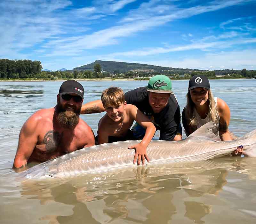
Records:
[[[0,78],[42,78],[42,79],[52,79],[63,78],[106,78],[106,77],[148,77],[159,74],[159,71],[146,72],[146,71],[128,71],[120,72],[119,69],[115,69],[113,73],[109,71],[102,71],[100,64],[94,64],[93,70],[74,70],[74,71],[41,71],[42,65],[41,61],[32,60],[8,60],[0,59]],[[225,75],[227,77],[248,77],[252,78],[256,76],[255,70],[246,70],[245,68],[241,71],[225,69],[220,72],[219,70],[214,71],[198,71],[198,70],[187,70],[187,71],[173,71],[162,70],[161,74],[166,76],[175,76],[174,79],[182,79],[180,76],[184,76],[185,79],[189,79],[191,76],[195,75],[205,75],[207,77],[216,77],[216,75]]]

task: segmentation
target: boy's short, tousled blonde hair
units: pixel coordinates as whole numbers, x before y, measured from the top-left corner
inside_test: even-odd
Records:
[[[124,92],[121,88],[110,87],[102,92],[101,102],[104,108],[116,107],[117,105],[124,104]]]

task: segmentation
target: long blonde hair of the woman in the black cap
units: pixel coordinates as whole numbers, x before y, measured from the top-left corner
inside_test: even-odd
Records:
[[[186,119],[189,121],[188,125],[192,127],[196,127],[196,122],[197,122],[194,110],[195,110],[195,104],[191,99],[190,91],[188,91],[185,115],[186,115]],[[209,117],[210,121],[215,121],[215,123],[217,124],[219,121],[218,110],[217,110],[217,106],[211,90],[209,90],[209,93],[208,93],[208,113],[210,113],[210,117]]]

